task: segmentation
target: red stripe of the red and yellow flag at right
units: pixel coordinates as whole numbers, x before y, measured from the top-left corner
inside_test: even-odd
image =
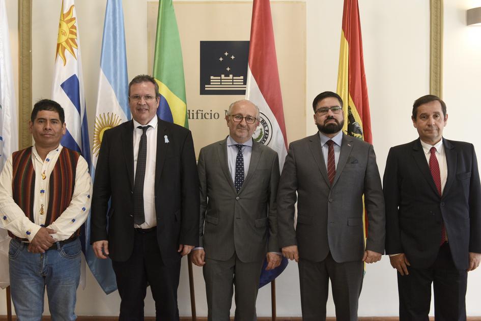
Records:
[[[364,141],[373,143],[357,0],[344,1],[343,32],[349,44],[349,94],[362,120]]]

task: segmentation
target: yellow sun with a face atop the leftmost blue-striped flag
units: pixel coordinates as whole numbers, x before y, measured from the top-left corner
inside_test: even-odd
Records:
[[[64,61],[64,66],[67,63],[65,49],[77,59],[73,51],[74,48],[77,49],[77,26],[75,25],[77,19],[73,17],[73,8],[74,6],[71,6],[67,12],[64,12],[64,4],[62,3],[62,10],[60,12],[59,37],[57,38],[55,59],[60,55]]]

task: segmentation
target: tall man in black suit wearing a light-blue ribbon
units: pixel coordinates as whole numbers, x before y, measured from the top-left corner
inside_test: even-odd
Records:
[[[95,172],[91,242],[97,257],[112,259],[120,321],[144,320],[147,284],[156,320],[179,319],[181,257],[199,238],[199,177],[192,135],[158,119],[159,102],[154,78],[132,79],[133,120],[105,131]]]

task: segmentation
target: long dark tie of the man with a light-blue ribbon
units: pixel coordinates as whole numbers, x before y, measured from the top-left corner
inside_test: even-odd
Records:
[[[138,143],[137,167],[135,168],[134,182],[134,223],[140,225],[145,222],[144,213],[144,179],[145,167],[147,163],[147,126],[138,126],[142,129],[142,136]]]

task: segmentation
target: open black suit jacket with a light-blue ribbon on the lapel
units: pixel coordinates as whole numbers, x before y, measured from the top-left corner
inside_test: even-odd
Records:
[[[199,177],[190,131],[161,120],[157,126],[155,212],[157,240],[166,263],[180,258],[179,244],[197,244]],[[109,256],[116,261],[125,261],[132,253],[133,166],[133,121],[129,121],[103,134],[92,196],[90,240],[108,240]]]

